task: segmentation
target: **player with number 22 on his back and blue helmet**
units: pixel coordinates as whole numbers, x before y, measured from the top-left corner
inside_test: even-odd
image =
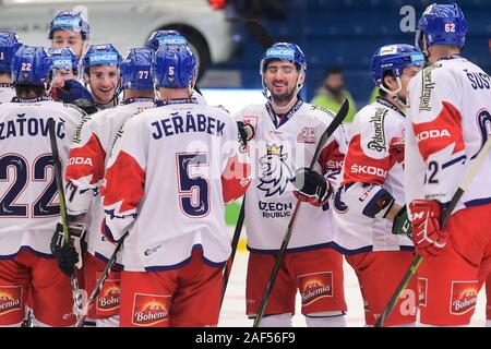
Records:
[[[83,111],[46,96],[50,59],[39,47],[21,47],[12,59],[15,97],[0,105],[0,325],[24,320],[27,292],[38,326],[75,323],[70,279],[57,268],[50,237],[60,219],[47,120],[56,121],[67,164]]]

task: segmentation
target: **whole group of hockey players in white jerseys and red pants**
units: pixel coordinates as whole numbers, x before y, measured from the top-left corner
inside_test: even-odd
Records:
[[[124,58],[80,13],[49,49],[0,32],[0,326],[217,326],[241,197],[254,324],[291,326],[300,292],[308,326],[346,326],[345,258],[367,326],[467,325],[484,282],[491,326],[491,81],[459,56],[466,32],[457,4],[428,7],[416,47],[373,55],[378,99],[320,145],[336,117],[301,99],[296,44],[265,50],[265,103],[231,116],[178,31]]]

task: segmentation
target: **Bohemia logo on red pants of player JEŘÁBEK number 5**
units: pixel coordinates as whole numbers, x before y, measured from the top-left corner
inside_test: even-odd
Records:
[[[135,293],[133,324],[152,326],[169,320],[170,296]]]

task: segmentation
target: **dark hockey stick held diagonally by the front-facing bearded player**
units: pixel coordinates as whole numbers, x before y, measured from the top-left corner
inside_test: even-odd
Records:
[[[312,161],[310,163],[309,169],[311,169],[311,170],[313,169],[315,163],[318,161],[319,155],[321,154],[322,148],[324,147],[328,137],[342,124],[343,120],[345,120],[346,116],[348,115],[348,109],[349,109],[349,103],[348,103],[348,99],[345,99],[339,111],[337,112],[337,115],[334,117],[333,121],[330,123],[327,129],[322,134],[321,140],[319,141],[318,147],[315,148],[315,153],[312,157]],[[266,290],[264,291],[263,299],[261,300],[259,312],[255,315],[253,327],[258,327],[261,324],[261,320],[263,318],[264,310],[266,309],[267,300],[270,298],[271,291],[273,290],[273,286],[275,284],[276,277],[278,276],[279,266],[283,263],[283,258],[285,256],[286,249],[288,246],[288,242],[290,241],[291,232],[294,231],[295,222],[297,220],[297,214],[301,206],[301,203],[302,203],[301,201],[297,200],[297,204],[295,205],[294,213],[291,214],[291,218],[288,224],[288,228],[285,233],[285,237],[283,238],[282,246],[279,248],[279,252],[276,257],[276,262],[273,267],[273,272],[271,274],[270,280],[267,281]]]

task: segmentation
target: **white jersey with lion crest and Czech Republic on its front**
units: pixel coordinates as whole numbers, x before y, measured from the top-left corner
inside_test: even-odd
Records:
[[[235,116],[254,127],[248,142],[252,183],[246,194],[248,249],[279,250],[297,198],[291,180],[297,168],[309,167],[319,140],[334,113],[299,100],[278,124],[271,105],[251,105]],[[286,120],[286,119],[285,119]],[[314,170],[335,184],[343,166],[347,142],[340,125],[327,140]],[[330,203],[331,205],[332,203]],[[298,212],[288,251],[327,246],[332,238],[331,210],[302,204]]]

